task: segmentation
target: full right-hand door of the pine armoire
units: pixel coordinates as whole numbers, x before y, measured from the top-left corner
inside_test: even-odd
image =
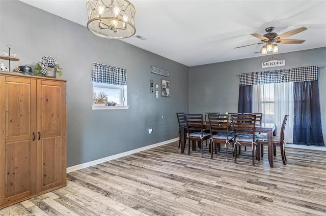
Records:
[[[66,151],[62,144],[63,128],[62,121],[62,95],[65,95],[65,89],[62,82],[42,80],[37,82],[38,98],[38,135],[37,144],[37,188],[44,191],[55,186],[65,184],[66,166],[65,160],[62,160]],[[64,110],[65,115],[65,110]]]

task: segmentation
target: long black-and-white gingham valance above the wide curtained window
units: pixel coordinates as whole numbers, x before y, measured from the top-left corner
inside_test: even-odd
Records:
[[[296,67],[239,74],[240,86],[268,83],[290,83],[317,80],[318,66]]]

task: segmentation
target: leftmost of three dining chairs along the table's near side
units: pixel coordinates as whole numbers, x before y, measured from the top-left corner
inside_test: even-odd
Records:
[[[187,138],[189,141],[188,155],[190,155],[191,141],[193,146],[196,141],[200,141],[201,157],[203,157],[203,140],[209,139],[210,133],[203,131],[203,114],[185,114],[185,121],[187,124]]]

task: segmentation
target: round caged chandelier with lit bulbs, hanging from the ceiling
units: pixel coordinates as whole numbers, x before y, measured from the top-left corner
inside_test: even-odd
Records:
[[[129,38],[135,32],[135,9],[127,0],[89,0],[87,29],[110,39]]]

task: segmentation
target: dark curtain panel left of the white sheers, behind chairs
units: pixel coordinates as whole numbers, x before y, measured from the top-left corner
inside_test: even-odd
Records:
[[[253,112],[253,86],[239,87],[238,113]]]

